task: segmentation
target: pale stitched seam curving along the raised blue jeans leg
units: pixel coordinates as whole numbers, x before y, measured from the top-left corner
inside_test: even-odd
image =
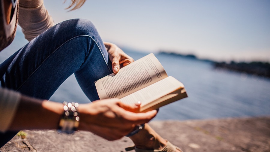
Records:
[[[77,37],[81,37],[81,36],[88,36],[88,37],[90,37],[94,42],[95,42],[95,44],[98,46],[98,43],[91,37],[91,36],[89,36],[89,35],[78,35],[78,36],[75,36],[75,37],[73,37],[73,38],[70,38],[70,39],[68,39],[67,41],[65,41],[63,44],[61,44],[59,47],[57,47],[52,53],[50,53],[50,55],[46,58],[46,59],[44,59],[44,61],[32,72],[32,74],[30,74],[29,75],[29,77],[18,87],[18,89],[16,89],[16,91],[18,91],[21,87],[22,87],[22,85],[23,84],[25,84],[25,82],[35,73],[35,71],[37,71],[38,70],[38,68],[53,54],[53,53],[55,53],[55,51],[56,50],[58,50],[61,46],[63,46],[65,43],[67,43],[68,41],[70,41],[70,40],[72,40],[72,39],[74,39],[74,38],[77,38]],[[98,46],[98,49],[99,49],[99,51],[100,51],[100,53],[102,54],[102,57],[103,57],[103,59],[104,59],[104,62],[106,63],[106,65],[107,65],[107,67],[108,67],[108,69],[110,70],[110,67],[108,66],[108,64],[107,64],[107,62],[106,62],[106,60],[105,60],[105,58],[104,58],[104,54],[102,53],[102,51],[101,51],[101,49],[100,49],[100,47]]]

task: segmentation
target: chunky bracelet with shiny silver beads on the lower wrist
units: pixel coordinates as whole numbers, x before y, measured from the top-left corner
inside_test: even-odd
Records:
[[[79,113],[77,112],[79,104],[75,102],[63,102],[64,112],[60,118],[57,132],[73,134],[79,126]]]

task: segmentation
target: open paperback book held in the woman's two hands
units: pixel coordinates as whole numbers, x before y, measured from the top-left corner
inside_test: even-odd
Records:
[[[141,102],[146,112],[187,97],[184,85],[167,75],[153,53],[95,82],[100,99],[119,98],[126,104]]]

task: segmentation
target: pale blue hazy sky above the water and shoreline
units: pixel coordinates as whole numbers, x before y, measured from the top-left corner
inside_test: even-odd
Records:
[[[172,50],[216,60],[270,62],[268,0],[87,0],[67,12],[67,0],[44,0],[59,23],[91,20],[104,41],[135,50]]]

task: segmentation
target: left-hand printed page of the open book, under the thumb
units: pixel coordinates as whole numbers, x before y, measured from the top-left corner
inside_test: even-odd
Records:
[[[122,98],[168,77],[153,53],[95,82],[100,99]]]

